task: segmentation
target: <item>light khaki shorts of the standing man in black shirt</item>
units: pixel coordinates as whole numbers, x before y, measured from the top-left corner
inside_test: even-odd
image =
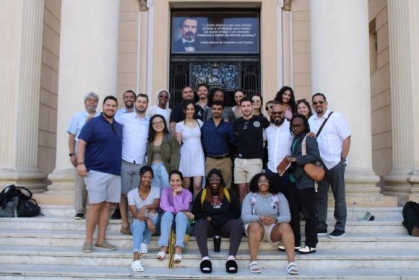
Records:
[[[234,160],[234,184],[249,183],[256,174],[262,172],[260,158],[236,158]]]

